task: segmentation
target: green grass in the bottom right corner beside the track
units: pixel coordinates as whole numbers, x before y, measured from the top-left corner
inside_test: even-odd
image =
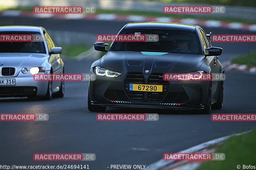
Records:
[[[230,137],[215,151],[225,153],[226,159],[222,161],[204,161],[197,170],[237,169],[236,166],[256,166],[256,130],[239,136]]]

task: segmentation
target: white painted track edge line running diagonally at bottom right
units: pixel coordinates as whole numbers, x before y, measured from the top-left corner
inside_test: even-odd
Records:
[[[217,139],[213,139],[213,140],[210,140],[210,141],[207,141],[207,142],[204,142],[202,144],[198,144],[196,146],[193,146],[191,148],[188,148],[188,149],[185,149],[183,151],[180,151],[178,153],[194,153],[194,152],[197,152],[197,151],[200,151],[208,146],[211,146],[211,145],[214,145],[214,144],[218,144],[226,139],[228,139],[229,137],[232,137],[232,136],[238,136],[238,135],[242,135],[244,133],[248,133],[250,131],[247,131],[247,132],[243,132],[243,133],[238,133],[238,134],[235,134],[235,135],[229,135],[229,136],[225,136],[225,137],[220,137],[220,138],[217,138]],[[160,168],[163,168],[171,163],[173,163],[174,160],[164,160],[164,159],[160,159],[150,165],[148,165],[147,167],[149,167],[147,170],[159,170]]]

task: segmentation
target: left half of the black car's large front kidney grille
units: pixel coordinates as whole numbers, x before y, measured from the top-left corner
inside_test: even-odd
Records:
[[[143,74],[139,72],[130,72],[130,73],[127,73],[124,80],[124,85],[125,85],[124,88],[130,100],[142,101],[144,98],[144,92],[130,91],[129,90],[130,84],[144,84]]]

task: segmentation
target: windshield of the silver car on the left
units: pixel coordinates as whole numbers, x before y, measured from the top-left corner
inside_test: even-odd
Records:
[[[24,31],[5,31],[0,32],[0,36],[6,36],[6,34],[38,34],[38,32],[24,32]],[[1,37],[3,40],[4,37]],[[44,42],[43,41],[32,41],[32,42],[22,42],[22,41],[0,41],[0,53],[44,53],[46,54]]]

